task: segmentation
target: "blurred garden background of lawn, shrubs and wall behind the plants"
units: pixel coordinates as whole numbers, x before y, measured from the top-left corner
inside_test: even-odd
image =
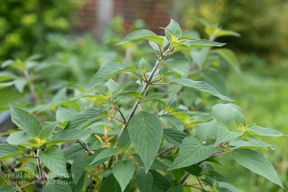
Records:
[[[129,3],[135,6],[128,6]],[[150,12],[134,14],[138,9],[145,8],[141,7],[143,1],[118,0],[103,4],[101,0],[1,0],[0,61],[12,59],[27,65],[31,63],[31,60],[27,60],[29,56],[42,54],[39,60],[32,63],[36,69],[31,78],[36,82],[37,92],[41,93],[38,99],[45,103],[47,100],[57,100],[59,95],[55,96],[54,90],[61,89],[63,85],[85,89],[98,68],[108,62],[132,63],[143,56],[153,61],[153,50],[146,44],[141,48],[114,46],[130,31],[141,28],[152,30],[159,23],[162,25],[157,28],[165,27],[173,18],[179,22],[182,31],[196,30],[201,38],[209,38],[204,26],[196,20],[204,18],[241,34],[241,37],[219,37],[217,42],[227,43],[225,47],[232,49],[239,60],[242,77],[225,66],[221,72],[230,98],[241,107],[247,123],[257,122],[257,125],[288,135],[288,1],[171,0],[165,3],[149,0],[145,3]],[[94,9],[89,8],[92,6],[95,6]],[[98,14],[101,6],[113,6],[114,9],[109,9],[111,14],[103,18]],[[123,12],[119,11],[121,9]],[[159,23],[155,24],[151,20]],[[1,70],[0,77],[4,77]],[[13,75],[23,75],[21,71],[11,71]],[[26,105],[22,101],[27,100],[29,89],[23,88],[22,93],[16,89],[19,90],[19,87],[0,90],[1,110],[7,109],[8,102]],[[51,107],[40,105],[38,109],[43,106],[47,109]],[[37,111],[37,106],[33,107]],[[274,151],[263,149],[259,152],[274,165],[283,185],[288,188],[287,138],[261,139],[278,145]],[[230,183],[238,189],[283,191],[265,178],[241,167],[229,155],[219,158],[225,165],[217,166],[217,169],[232,178]]]

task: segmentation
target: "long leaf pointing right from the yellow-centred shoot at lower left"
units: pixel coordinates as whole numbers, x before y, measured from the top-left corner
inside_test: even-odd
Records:
[[[57,143],[77,140],[82,137],[86,137],[94,132],[95,130],[78,130],[78,129],[62,130],[52,136],[51,139],[53,140],[47,143],[47,147]]]

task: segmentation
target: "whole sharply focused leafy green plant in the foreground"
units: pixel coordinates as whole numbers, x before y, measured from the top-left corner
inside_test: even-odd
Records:
[[[182,31],[172,19],[163,29],[166,36],[139,30],[117,44],[149,40],[156,56],[152,69],[144,59],[139,61],[138,67],[124,62],[108,63],[97,71],[84,93],[71,99],[104,100],[100,108],[93,107],[95,102],[92,102],[73,115],[58,106],[57,120],[43,128],[34,115],[10,105],[12,121],[21,131],[12,132],[7,138],[8,144],[0,145],[0,160],[5,170],[1,177],[10,181],[6,180],[0,191],[240,191],[226,183],[231,178],[213,168],[213,164],[225,165],[225,162],[218,162],[220,155],[231,155],[241,166],[283,187],[268,159],[253,150],[271,148],[259,140],[258,135],[283,134],[255,123],[247,124],[240,107],[208,83],[179,78],[180,75],[187,77],[183,69],[190,65],[190,60],[175,57],[177,52],[220,47],[225,43],[181,39]],[[129,90],[130,85],[119,85],[109,79],[117,73],[135,78],[133,82],[136,83],[131,86],[135,89]],[[106,83],[102,82],[107,79]],[[103,85],[103,92],[99,91],[102,93],[91,91],[97,85]],[[165,92],[167,86],[180,88]],[[190,106],[177,105],[177,93],[183,89],[210,94],[213,101],[218,97],[226,104],[215,104],[211,114],[209,110],[190,111]],[[130,105],[130,100],[127,102],[131,97],[136,97],[134,105]],[[121,99],[126,99],[126,104],[119,107]],[[198,129],[192,134],[185,124],[189,119],[203,116],[209,117],[205,120],[208,129]],[[13,183],[15,173],[5,162],[13,158],[21,163],[17,169],[14,166],[15,173],[33,174],[26,178],[16,175],[20,181],[26,181],[25,184]]]

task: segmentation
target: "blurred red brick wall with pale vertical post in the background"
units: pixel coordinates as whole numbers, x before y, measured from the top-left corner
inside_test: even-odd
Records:
[[[106,2],[104,2],[106,1]],[[108,1],[110,2],[107,5]],[[165,27],[169,24],[175,0],[87,0],[79,10],[78,22],[75,30],[78,32],[90,32],[99,37],[105,31],[105,25],[109,18],[122,16],[124,28],[128,29],[136,19],[143,19],[149,30],[164,35]],[[103,10],[103,4],[106,8]],[[111,6],[111,9],[107,9]],[[107,9],[107,12],[105,12]],[[108,13],[109,12],[109,13]],[[101,13],[101,15],[99,15]],[[104,16],[103,16],[104,13]],[[107,15],[105,15],[107,14]],[[109,18],[108,18],[109,17]],[[105,20],[103,22],[103,19]]]

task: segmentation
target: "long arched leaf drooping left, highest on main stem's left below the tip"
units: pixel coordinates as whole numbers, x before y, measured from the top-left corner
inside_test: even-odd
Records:
[[[86,92],[92,89],[94,86],[96,86],[98,83],[100,83],[104,79],[111,77],[112,75],[115,75],[117,73],[124,72],[124,71],[135,72],[136,68],[135,66],[130,66],[129,64],[123,63],[123,62],[113,62],[113,63],[106,64],[101,69],[99,69],[97,73],[94,75]]]

